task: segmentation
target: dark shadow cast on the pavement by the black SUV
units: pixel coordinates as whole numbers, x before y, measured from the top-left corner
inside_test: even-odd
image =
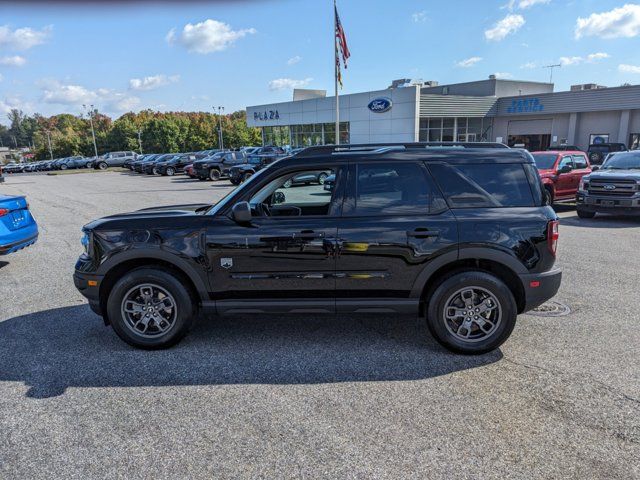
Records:
[[[24,383],[31,398],[69,387],[420,380],[501,358],[450,353],[413,317],[203,318],[161,351],[123,343],[86,305],[0,322],[0,382]]]

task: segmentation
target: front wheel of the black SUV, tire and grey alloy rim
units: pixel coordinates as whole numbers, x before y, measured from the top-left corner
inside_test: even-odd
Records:
[[[162,268],[132,270],[115,284],[107,313],[116,334],[129,345],[147,350],[178,343],[196,314],[183,282]]]

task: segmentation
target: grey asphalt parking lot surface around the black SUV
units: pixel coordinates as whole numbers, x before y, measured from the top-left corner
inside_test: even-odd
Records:
[[[134,350],[71,274],[90,220],[232,186],[18,175],[39,242],[0,257],[0,478],[639,478],[640,220],[560,209],[556,300],[500,350],[415,318],[207,319]]]

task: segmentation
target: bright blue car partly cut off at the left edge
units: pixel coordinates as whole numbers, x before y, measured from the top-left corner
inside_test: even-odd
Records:
[[[38,239],[38,225],[22,196],[0,195],[0,255],[22,250]]]

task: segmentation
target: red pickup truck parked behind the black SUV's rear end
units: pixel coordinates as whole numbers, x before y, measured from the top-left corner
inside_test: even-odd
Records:
[[[575,200],[580,179],[591,173],[587,154],[577,150],[531,152],[551,203]]]

